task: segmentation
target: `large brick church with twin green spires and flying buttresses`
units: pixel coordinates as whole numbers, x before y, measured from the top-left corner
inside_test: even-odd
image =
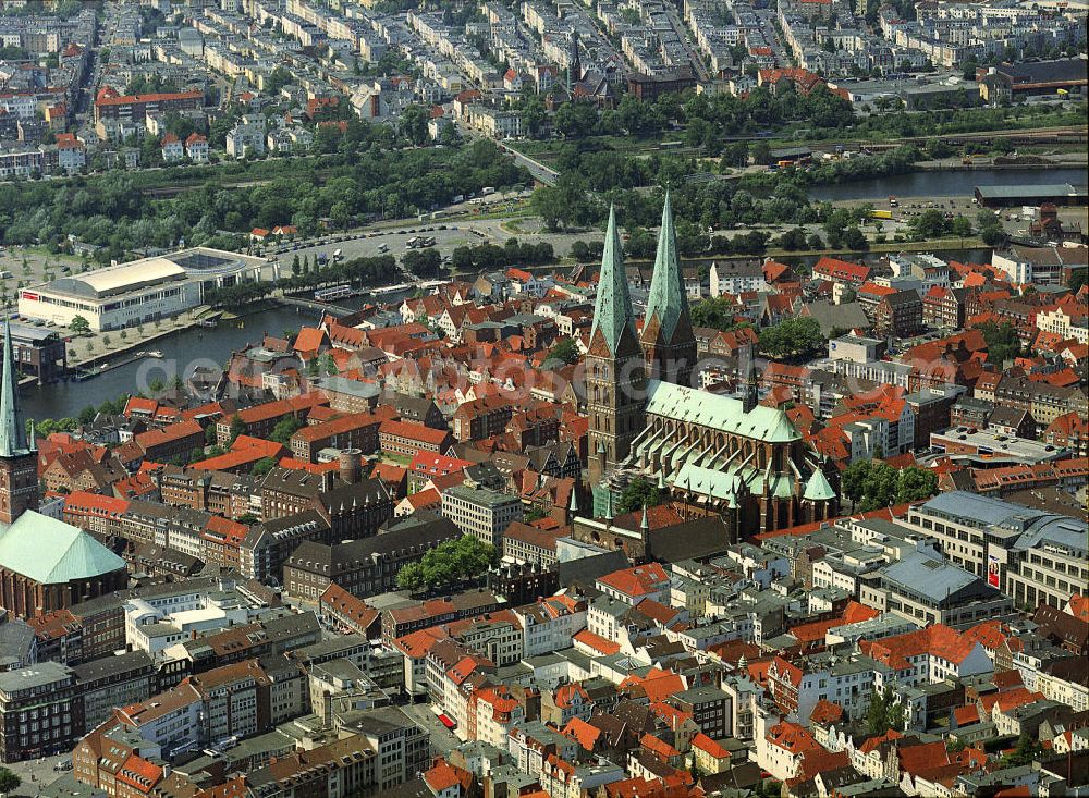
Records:
[[[734,539],[834,514],[820,458],[778,408],[758,404],[751,356],[741,396],[692,388],[696,337],[665,197],[641,333],[609,213],[586,355],[588,475],[595,515],[645,477],[685,517],[720,515]]]

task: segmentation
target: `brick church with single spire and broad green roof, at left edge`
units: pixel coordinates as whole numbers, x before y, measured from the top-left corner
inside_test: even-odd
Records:
[[[0,376],[0,606],[29,618],[129,586],[124,561],[38,508],[38,453],[19,402],[11,326]]]

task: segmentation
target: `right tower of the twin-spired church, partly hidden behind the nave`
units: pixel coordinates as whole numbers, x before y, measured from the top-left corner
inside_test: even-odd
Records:
[[[676,231],[673,228],[673,206],[669,193],[662,208],[662,230],[658,235],[658,255],[647,297],[647,316],[643,323],[641,343],[647,359],[647,373],[652,379],[692,385],[696,364],[696,335],[692,329],[688,297],[677,257]]]

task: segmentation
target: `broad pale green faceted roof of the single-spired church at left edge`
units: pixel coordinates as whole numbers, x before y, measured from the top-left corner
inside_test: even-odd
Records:
[[[125,561],[88,532],[28,510],[0,532],[0,566],[58,585],[120,570]]]

